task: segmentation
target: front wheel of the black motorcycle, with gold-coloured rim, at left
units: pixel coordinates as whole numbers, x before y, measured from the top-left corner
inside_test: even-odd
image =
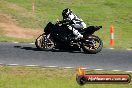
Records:
[[[49,51],[53,49],[54,42],[52,41],[50,34],[42,34],[36,39],[35,45],[39,50]]]

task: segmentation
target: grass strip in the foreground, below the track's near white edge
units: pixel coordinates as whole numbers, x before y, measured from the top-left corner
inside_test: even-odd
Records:
[[[0,66],[0,88],[131,88],[130,84],[76,83],[75,69]],[[125,72],[87,71],[88,74],[126,74]],[[130,73],[132,76],[132,73]]]

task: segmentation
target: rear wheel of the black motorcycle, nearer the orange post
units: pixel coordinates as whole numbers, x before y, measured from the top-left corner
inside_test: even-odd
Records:
[[[86,40],[90,40],[93,43],[91,44],[91,43],[84,42],[82,44],[82,49],[85,53],[96,54],[102,50],[103,42],[98,36],[90,35],[87,37]]]

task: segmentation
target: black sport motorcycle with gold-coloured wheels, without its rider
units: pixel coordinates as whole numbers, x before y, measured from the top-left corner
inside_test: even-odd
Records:
[[[40,35],[35,42],[35,45],[40,50],[54,50],[66,47],[78,47],[84,53],[96,54],[102,50],[102,40],[93,35],[102,26],[89,26],[85,29],[77,29],[83,38],[75,39],[73,32],[68,29],[70,22],[49,22],[44,28],[44,33]],[[59,47],[58,47],[59,46]]]

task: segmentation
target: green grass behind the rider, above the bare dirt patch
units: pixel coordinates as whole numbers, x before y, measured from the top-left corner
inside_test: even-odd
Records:
[[[15,8],[17,7],[17,8]],[[61,19],[61,11],[69,7],[89,25],[102,25],[96,34],[109,45],[110,24],[115,28],[115,48],[132,47],[132,0],[1,0],[0,12],[16,19],[22,27],[43,28],[49,21]]]

